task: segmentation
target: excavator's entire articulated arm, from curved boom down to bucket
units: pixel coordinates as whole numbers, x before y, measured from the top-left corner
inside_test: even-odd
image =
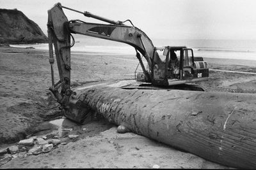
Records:
[[[81,101],[74,97],[76,93],[70,89],[70,48],[72,47],[70,37],[73,38],[72,34],[83,34],[95,38],[118,41],[133,46],[136,50],[136,57],[140,61],[143,73],[145,74],[145,80],[148,82],[151,82],[150,74],[143,65],[140,53],[147,60],[149,69],[152,68],[153,59],[156,64],[161,64],[162,61],[154,50],[154,45],[150,38],[148,38],[147,34],[137,27],[124,25],[123,22],[120,21],[115,22],[113,20],[108,20],[106,18],[93,15],[87,11],[84,13],[80,11],[77,12],[83,13],[86,17],[93,17],[103,20],[104,22],[109,22],[110,24],[95,24],[83,22],[81,20],[68,21],[68,18],[62,10],[63,8],[72,10],[65,6],[61,6],[61,4],[58,3],[48,11],[47,27],[49,37],[49,62],[51,64],[52,71],[52,87],[50,87],[50,90],[56,97],[58,103],[61,104],[61,110],[64,112],[64,115],[73,115],[69,118],[72,118],[73,120],[78,118],[78,121],[76,121],[79,122],[82,118],[77,117],[76,113],[78,114],[81,111],[83,112],[83,106],[80,106]],[[74,43],[74,38],[72,43]],[[54,45],[60,76],[60,81],[57,83],[54,82],[54,57],[52,44]],[[59,89],[61,89],[60,92]]]

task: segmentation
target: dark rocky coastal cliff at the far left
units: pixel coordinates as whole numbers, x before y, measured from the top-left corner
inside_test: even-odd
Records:
[[[47,43],[44,32],[22,11],[0,9],[0,23],[1,44]]]

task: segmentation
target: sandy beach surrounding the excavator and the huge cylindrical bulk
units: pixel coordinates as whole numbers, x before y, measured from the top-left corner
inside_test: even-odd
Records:
[[[76,53],[71,59],[72,87],[132,80],[138,65],[135,56]],[[51,69],[47,50],[0,47],[0,148],[20,139],[58,131],[50,120],[62,117],[59,104],[49,92]],[[214,71],[214,69],[256,73],[256,60],[205,58],[209,81],[199,82],[206,92],[256,93],[254,74]],[[58,80],[58,68],[54,66]],[[61,138],[52,152],[15,157],[0,168],[113,167],[113,168],[228,168],[191,153],[175,150],[133,133],[118,134],[116,125],[95,118],[86,125],[64,119],[65,128],[79,138]],[[83,131],[83,129],[87,129]]]

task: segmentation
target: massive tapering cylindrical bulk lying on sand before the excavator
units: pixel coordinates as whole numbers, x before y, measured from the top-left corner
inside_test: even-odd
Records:
[[[256,95],[97,87],[83,104],[116,125],[204,159],[256,168]]]

